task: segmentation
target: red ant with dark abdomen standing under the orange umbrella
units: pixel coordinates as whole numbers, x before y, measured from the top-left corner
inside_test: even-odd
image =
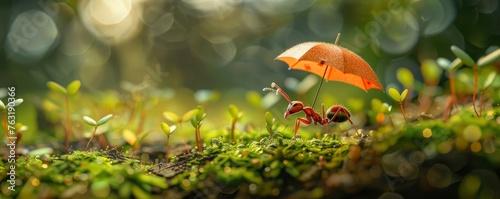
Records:
[[[312,107],[304,106],[303,102],[290,100],[290,97],[285,93],[285,91],[283,91],[278,86],[278,84],[276,84],[274,82],[271,83],[271,88],[264,88],[262,90],[263,91],[276,91],[276,95],[279,94],[279,95],[283,96],[283,98],[285,98],[288,101],[289,104],[288,104],[288,108],[286,109],[286,112],[285,112],[285,118],[287,118],[291,114],[298,113],[300,111],[304,111],[304,113],[306,114],[306,118],[297,118],[295,120],[295,132],[293,134],[294,140],[296,138],[297,131],[300,128],[301,122],[302,122],[302,124],[305,124],[305,125],[309,125],[312,122],[314,122],[314,125],[318,125],[318,124],[327,125],[327,124],[332,123],[332,122],[342,123],[345,121],[349,121],[351,123],[351,125],[354,127],[354,123],[352,123],[352,120],[351,120],[351,113],[349,112],[349,110],[347,108],[345,108],[341,105],[331,106],[330,108],[328,108],[328,111],[326,111],[326,115],[325,115],[325,106],[324,106],[324,104],[322,104],[321,107],[322,107],[323,117],[321,117],[321,115],[316,113],[312,109]],[[354,129],[356,130],[356,134],[358,136],[360,136],[356,127],[354,127]]]

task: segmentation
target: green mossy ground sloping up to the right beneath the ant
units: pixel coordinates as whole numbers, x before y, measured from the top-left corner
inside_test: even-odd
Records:
[[[461,109],[446,122],[420,117],[368,136],[297,139],[251,131],[237,143],[143,161],[119,149],[18,157],[17,198],[498,198],[500,108]],[[417,197],[418,196],[418,197]]]

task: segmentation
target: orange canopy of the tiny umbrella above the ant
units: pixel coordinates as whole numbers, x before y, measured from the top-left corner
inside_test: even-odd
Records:
[[[305,70],[325,80],[349,83],[365,91],[383,90],[377,75],[363,58],[336,44],[305,42],[289,48],[276,59],[287,63],[289,69]]]

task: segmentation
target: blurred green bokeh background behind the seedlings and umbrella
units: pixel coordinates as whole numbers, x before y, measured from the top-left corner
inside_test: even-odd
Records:
[[[474,60],[498,46],[498,4],[497,0],[5,0],[0,3],[0,87],[15,86],[18,97],[32,106],[43,105],[37,96],[46,94],[47,81],[67,85],[75,79],[81,80],[83,92],[121,94],[142,85],[156,88],[159,96],[175,96],[151,114],[165,110],[181,114],[211,97],[224,101],[218,111],[222,113],[227,104],[248,100],[247,91],[264,96],[262,88],[273,81],[284,84],[292,98],[310,102],[315,90],[310,85],[305,86],[304,96],[297,95],[302,92],[297,90],[299,82],[308,74],[274,61],[287,48],[305,41],[333,43],[342,33],[339,44],[363,57],[385,88],[398,86],[397,68],[409,68],[421,79],[423,60],[455,58],[451,45],[465,49]],[[328,106],[345,104],[347,98],[387,99],[380,91],[366,94],[353,88],[329,82],[321,100]],[[5,94],[0,93],[3,99]],[[105,103],[113,101],[110,96],[121,95],[97,98]],[[284,100],[280,103],[273,106],[275,115],[286,106]],[[92,115],[92,106],[87,108],[81,112]],[[110,112],[120,110],[113,108]],[[218,114],[207,113],[208,119]],[[19,117],[34,123],[29,121],[35,115],[32,111]],[[81,115],[74,117],[78,120]]]

